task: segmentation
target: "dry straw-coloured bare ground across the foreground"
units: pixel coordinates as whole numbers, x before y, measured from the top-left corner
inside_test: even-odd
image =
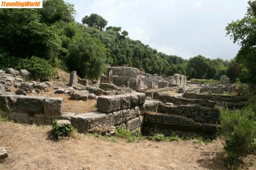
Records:
[[[225,169],[216,159],[220,141],[115,143],[76,134],[55,142],[48,138],[50,129],[0,122],[0,146],[9,154],[0,169]]]

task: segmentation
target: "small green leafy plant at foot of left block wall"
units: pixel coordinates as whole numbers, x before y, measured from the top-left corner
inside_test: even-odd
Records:
[[[53,120],[52,132],[56,139],[67,137],[73,131],[73,127],[70,124],[57,124],[57,120]]]

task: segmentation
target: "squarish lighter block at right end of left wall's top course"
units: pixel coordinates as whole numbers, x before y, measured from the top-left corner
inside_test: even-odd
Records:
[[[44,107],[44,114],[61,115],[62,107],[63,107],[63,99],[62,98],[46,98],[42,102],[42,106]]]

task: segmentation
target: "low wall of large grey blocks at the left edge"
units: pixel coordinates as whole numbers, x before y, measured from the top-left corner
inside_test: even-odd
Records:
[[[62,98],[0,95],[0,108],[17,123],[51,125],[62,114]]]

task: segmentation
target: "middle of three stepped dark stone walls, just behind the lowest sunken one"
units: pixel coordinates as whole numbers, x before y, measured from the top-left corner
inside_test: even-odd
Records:
[[[185,116],[198,123],[219,124],[220,111],[215,108],[206,108],[199,105],[165,105],[160,104],[158,112]]]

